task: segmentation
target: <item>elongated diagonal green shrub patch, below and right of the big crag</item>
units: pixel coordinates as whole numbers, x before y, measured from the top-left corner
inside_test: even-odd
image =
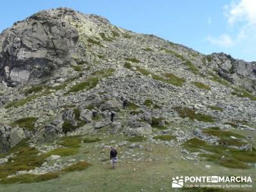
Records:
[[[90,90],[94,88],[99,82],[99,77],[88,77],[86,81],[83,81],[81,83],[78,83],[70,88],[65,95],[68,95],[69,93],[76,93],[81,90]]]

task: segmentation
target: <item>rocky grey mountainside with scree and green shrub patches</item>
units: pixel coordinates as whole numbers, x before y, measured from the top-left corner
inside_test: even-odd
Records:
[[[173,148],[175,159],[213,159],[216,166],[237,164],[248,172],[256,163],[255,62],[200,54],[118,28],[97,15],[58,8],[35,13],[1,33],[0,77],[2,182],[29,170],[51,173],[45,171],[48,157],[84,157],[81,146],[90,142],[98,142],[90,145],[92,151],[115,143],[129,157],[131,148],[148,153],[147,145],[161,145],[163,151]],[[66,149],[74,152],[67,155]],[[9,159],[24,158],[27,150],[36,168],[9,173]],[[35,154],[42,159],[33,159]],[[89,163],[98,162],[90,158]],[[67,164],[49,166],[56,173]]]

